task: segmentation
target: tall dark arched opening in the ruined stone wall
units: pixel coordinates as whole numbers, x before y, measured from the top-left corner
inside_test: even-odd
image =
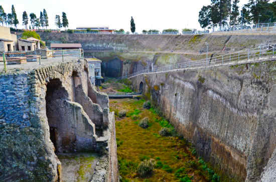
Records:
[[[60,129],[60,122],[61,122],[61,115],[62,103],[63,100],[68,98],[68,93],[64,87],[62,87],[60,79],[52,79],[46,85],[46,115],[48,118],[48,124],[50,128],[50,139],[55,146],[55,152],[59,151],[59,131]]]

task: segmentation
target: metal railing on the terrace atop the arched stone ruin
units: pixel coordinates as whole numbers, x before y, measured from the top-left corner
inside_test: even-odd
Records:
[[[84,52],[83,49],[61,49],[61,50],[47,50],[46,56],[41,56],[39,54],[34,54],[31,57],[28,57],[28,55],[25,55],[27,52],[3,52],[3,62],[4,62],[4,72],[7,72],[9,62],[13,62],[12,64],[20,64],[20,61],[25,61],[25,63],[31,63],[31,62],[38,62],[39,65],[41,65],[41,62],[44,60],[54,60],[56,57],[61,57],[59,61],[66,61],[68,57],[76,57],[76,59],[83,59],[84,58]],[[19,54],[19,56],[14,56]],[[27,61],[28,59],[33,59],[32,61]],[[35,60],[34,60],[35,59]],[[57,59],[56,59],[57,60]],[[15,61],[19,61],[18,63]],[[1,62],[1,61],[0,61]]]

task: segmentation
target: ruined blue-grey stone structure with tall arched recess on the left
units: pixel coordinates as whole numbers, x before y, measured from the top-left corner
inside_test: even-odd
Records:
[[[105,179],[117,181],[117,158],[110,156],[116,153],[114,114],[108,96],[91,85],[87,66],[53,62],[0,75],[0,181],[61,181],[55,151],[106,149]]]

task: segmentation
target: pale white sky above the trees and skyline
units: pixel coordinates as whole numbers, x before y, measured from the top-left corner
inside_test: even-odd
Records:
[[[66,12],[69,28],[77,26],[109,26],[111,29],[123,28],[130,31],[130,18],[133,16],[136,32],[143,29],[196,28],[198,12],[211,0],[1,0],[0,5],[6,13],[14,4],[22,25],[23,11],[28,15],[34,12],[37,17],[45,8],[49,17],[49,28],[56,29],[55,15]],[[240,0],[239,6],[248,0]]]

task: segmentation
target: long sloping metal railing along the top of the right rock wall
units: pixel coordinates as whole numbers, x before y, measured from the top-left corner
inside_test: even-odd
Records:
[[[243,64],[243,63],[265,61],[274,57],[276,53],[275,46],[276,46],[276,43],[272,43],[272,44],[270,43],[256,48],[251,48],[251,49],[249,48],[248,50],[241,50],[238,52],[219,55],[215,57],[206,57],[205,59],[200,59],[196,61],[170,64],[167,66],[156,67],[152,69],[143,69],[126,76],[121,76],[121,78],[131,78],[136,75],[151,73],[151,72],[162,72],[162,71],[171,71],[171,70],[178,70],[178,69],[207,68],[207,67],[214,67],[214,66],[220,66],[220,65],[236,65],[236,64]]]

